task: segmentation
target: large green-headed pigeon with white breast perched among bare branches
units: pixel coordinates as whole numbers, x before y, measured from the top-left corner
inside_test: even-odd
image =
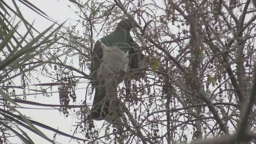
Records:
[[[94,45],[90,74],[95,89],[92,119],[116,118],[121,114],[117,86],[124,80],[126,71],[139,68],[144,57],[130,36],[133,26],[129,19],[121,20],[114,32]]]

